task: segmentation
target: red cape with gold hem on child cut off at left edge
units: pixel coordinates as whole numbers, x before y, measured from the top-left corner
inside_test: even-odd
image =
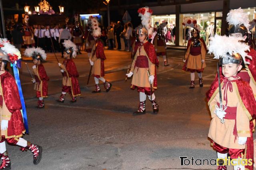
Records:
[[[14,77],[9,72],[4,72],[0,75],[1,78],[1,94],[0,105],[5,105],[10,115],[8,121],[7,134],[5,138],[18,138],[22,137],[22,133],[25,133],[24,123],[20,109],[22,109],[20,96],[18,92],[18,86]],[[4,111],[4,108],[3,108]],[[6,113],[2,113],[6,115]],[[3,117],[1,119],[4,119]],[[3,132],[1,132],[3,135]]]

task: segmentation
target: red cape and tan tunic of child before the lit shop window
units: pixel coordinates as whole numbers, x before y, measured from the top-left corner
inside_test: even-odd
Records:
[[[196,43],[194,43],[192,39],[188,40],[187,51],[185,54],[186,62],[182,71],[203,72],[206,64],[205,62],[202,63],[202,60],[205,60],[206,52],[207,48],[202,38],[198,39]]]

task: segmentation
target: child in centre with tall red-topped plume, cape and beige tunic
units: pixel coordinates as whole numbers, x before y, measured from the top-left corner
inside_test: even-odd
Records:
[[[145,7],[138,10],[139,16],[141,16],[142,25],[139,29],[139,41],[135,48],[135,56],[132,62],[131,70],[126,76],[132,77],[131,89],[137,88],[140,93],[140,104],[138,110],[133,115],[141,115],[146,113],[146,97],[148,96],[152,107],[153,113],[157,114],[158,104],[156,103],[156,96],[154,91],[157,88],[156,80],[156,66],[159,61],[156,57],[156,51],[154,45],[148,42],[148,37],[151,38],[153,28],[150,27],[150,16],[152,10]]]

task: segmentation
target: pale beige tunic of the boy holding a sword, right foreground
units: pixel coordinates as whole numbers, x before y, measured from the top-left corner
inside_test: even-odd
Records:
[[[243,108],[244,104],[242,103],[242,99],[239,95],[236,82],[232,82],[232,87],[233,87],[233,92],[230,92],[229,90],[227,92],[228,106],[237,107],[236,129],[238,132],[238,137],[250,137],[250,121],[247,116],[248,111]],[[217,94],[213,98],[213,100],[208,102],[211,116],[212,116],[208,137],[212,139],[215,143],[221,145],[222,147],[226,147],[230,149],[245,149],[245,145],[238,144],[238,137],[234,142],[235,136],[233,135],[233,129],[235,125],[235,120],[225,119],[224,117],[225,122],[224,124],[222,124],[220,122],[220,119],[214,113],[217,102],[220,103],[220,95],[218,93],[218,88],[216,92]],[[223,100],[223,94],[224,94],[224,90],[222,90],[222,101],[223,101],[223,106],[225,106],[226,101]]]

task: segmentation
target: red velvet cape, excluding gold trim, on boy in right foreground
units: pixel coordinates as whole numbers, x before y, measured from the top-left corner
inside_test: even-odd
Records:
[[[220,76],[220,82],[224,80],[224,76]],[[245,82],[242,79],[239,79],[236,81],[237,87],[239,94],[241,96],[241,99],[244,103],[244,106],[246,109],[249,111],[250,115],[252,116],[252,119],[255,119],[256,117],[256,101],[254,99],[254,95],[252,93],[252,88],[250,87],[248,82]],[[210,90],[206,92],[206,97],[207,101],[214,97],[212,96],[216,90],[218,90],[218,78],[215,78],[215,80],[212,82]],[[252,120],[250,120],[250,133],[251,137],[247,138],[246,141],[246,158],[247,159],[253,159],[253,152],[254,152],[254,147],[253,147],[253,136],[252,136],[252,129],[253,129],[253,123]],[[253,170],[253,165],[252,166],[246,166],[249,170]]]

